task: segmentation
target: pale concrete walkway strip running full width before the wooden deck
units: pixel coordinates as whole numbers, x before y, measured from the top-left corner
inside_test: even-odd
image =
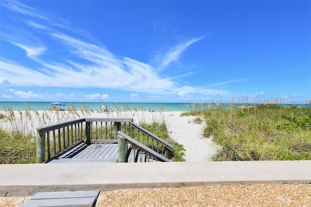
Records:
[[[0,165],[0,196],[252,183],[311,183],[311,160]]]

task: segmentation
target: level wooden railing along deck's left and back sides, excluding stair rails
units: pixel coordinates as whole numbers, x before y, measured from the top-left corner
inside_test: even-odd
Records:
[[[46,161],[46,150],[49,160],[82,141],[89,144],[91,139],[117,139],[119,130],[131,132],[132,121],[128,118],[82,118],[38,127],[36,162]]]

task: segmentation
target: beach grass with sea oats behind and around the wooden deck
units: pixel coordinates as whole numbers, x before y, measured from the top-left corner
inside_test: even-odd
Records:
[[[124,107],[118,104],[113,105],[117,110],[103,107],[96,112],[83,103],[79,109],[75,108],[73,104],[70,104],[67,111],[63,111],[56,106],[50,106],[40,113],[27,104],[25,104],[26,110],[17,110],[17,112],[12,108],[3,107],[0,117],[0,164],[35,163],[37,127],[80,118],[92,118],[94,115],[102,113],[107,117],[138,117],[139,125],[175,147],[172,155],[174,161],[184,161],[182,157],[185,151],[183,145],[169,138],[167,120],[163,116],[164,110],[156,115],[155,113],[151,114],[151,120],[146,120],[143,116],[143,108],[130,108],[127,104]],[[2,127],[4,124],[7,127]]]

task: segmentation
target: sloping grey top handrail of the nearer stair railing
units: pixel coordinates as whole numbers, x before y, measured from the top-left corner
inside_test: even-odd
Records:
[[[134,138],[131,138],[131,137],[127,136],[123,132],[118,131],[118,135],[121,136],[122,138],[126,139],[125,145],[126,145],[126,143],[130,143],[130,144],[132,144],[132,146],[134,148],[137,147],[138,149],[140,149],[140,151],[152,155],[157,160],[160,160],[160,161],[163,161],[163,162],[172,162],[172,160],[170,160],[170,159],[168,159],[168,158],[158,154],[154,150],[150,149],[149,147],[146,147],[145,145],[143,145],[140,142],[136,141]],[[128,158],[128,155],[126,155],[126,159],[127,158]]]

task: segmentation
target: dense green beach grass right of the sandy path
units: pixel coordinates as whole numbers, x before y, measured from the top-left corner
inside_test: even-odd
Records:
[[[212,136],[221,146],[214,161],[311,159],[310,100],[295,106],[279,100],[253,103],[218,104],[218,108],[196,109],[182,116],[204,118],[205,137]]]

